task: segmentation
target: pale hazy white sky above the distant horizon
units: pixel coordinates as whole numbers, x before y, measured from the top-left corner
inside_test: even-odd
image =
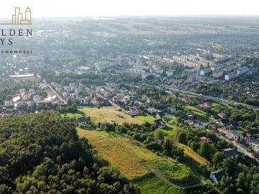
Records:
[[[259,14],[258,0],[8,0],[0,17],[10,17],[15,7],[30,6],[32,17],[114,15]],[[0,19],[1,19],[0,18]]]

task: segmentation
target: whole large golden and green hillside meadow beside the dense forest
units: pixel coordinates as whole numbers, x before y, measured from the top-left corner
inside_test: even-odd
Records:
[[[165,193],[170,186],[177,187],[172,182],[192,184],[197,180],[193,171],[185,164],[180,164],[172,158],[158,156],[145,149],[141,142],[118,135],[111,136],[103,131],[89,131],[80,128],[77,128],[77,131],[79,137],[87,138],[103,158],[117,166],[127,178],[134,180],[141,187],[143,193],[150,193],[149,191],[154,191],[155,188],[160,191],[157,193]],[[174,173],[170,173],[169,168],[173,167]],[[163,175],[165,170],[166,175]],[[150,173],[153,174],[153,177],[149,176]],[[150,184],[150,182],[154,183]]]

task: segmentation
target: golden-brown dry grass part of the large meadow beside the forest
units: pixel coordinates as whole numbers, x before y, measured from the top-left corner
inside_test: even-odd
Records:
[[[120,169],[121,173],[132,179],[149,173],[143,162],[156,160],[158,156],[145,148],[136,145],[136,142],[121,136],[107,136],[103,132],[88,131],[77,128],[79,137],[85,137],[90,144],[96,147],[100,155],[112,165]]]

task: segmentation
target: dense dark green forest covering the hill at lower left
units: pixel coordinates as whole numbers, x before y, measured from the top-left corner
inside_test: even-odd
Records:
[[[54,111],[1,118],[0,193],[138,193]]]

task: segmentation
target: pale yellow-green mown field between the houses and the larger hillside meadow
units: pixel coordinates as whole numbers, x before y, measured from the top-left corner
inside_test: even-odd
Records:
[[[79,109],[86,116],[90,116],[92,122],[116,122],[121,125],[123,122],[137,123],[139,125],[143,124],[141,120],[132,118],[131,116],[125,114],[123,111],[118,111],[118,108],[115,107],[101,107],[97,109],[96,107],[86,107]]]

